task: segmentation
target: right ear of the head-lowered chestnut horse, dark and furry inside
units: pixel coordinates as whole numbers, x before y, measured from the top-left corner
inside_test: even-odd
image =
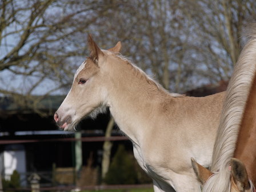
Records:
[[[234,179],[234,182],[237,184],[239,191],[250,189],[246,167],[236,158],[231,159],[231,175]]]

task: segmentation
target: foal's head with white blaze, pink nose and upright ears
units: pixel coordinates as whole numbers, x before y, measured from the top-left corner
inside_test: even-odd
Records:
[[[118,42],[109,50],[101,50],[88,36],[90,56],[78,68],[73,85],[54,114],[55,122],[63,130],[73,130],[75,125],[86,115],[95,115],[106,108],[107,81],[103,73],[107,57],[114,57],[119,52],[121,43]]]

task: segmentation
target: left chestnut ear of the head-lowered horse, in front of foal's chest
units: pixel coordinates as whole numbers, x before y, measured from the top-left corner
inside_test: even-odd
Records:
[[[191,158],[191,164],[194,169],[195,175],[197,175],[197,179],[202,185],[205,184],[207,179],[213,174],[211,171],[203,167],[202,165],[198,164],[194,158]]]

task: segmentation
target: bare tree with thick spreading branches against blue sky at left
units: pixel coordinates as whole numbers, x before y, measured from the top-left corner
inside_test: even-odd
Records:
[[[0,7],[0,93],[37,110],[46,95],[70,84],[86,55],[88,26],[107,7],[67,0],[3,0]]]

